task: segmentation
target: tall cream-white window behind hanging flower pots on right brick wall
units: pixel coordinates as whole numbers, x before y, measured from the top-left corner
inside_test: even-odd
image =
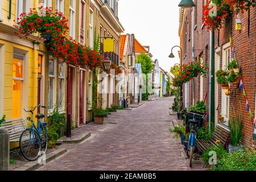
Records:
[[[226,70],[231,57],[230,43],[226,43],[222,47],[222,69]],[[225,95],[224,89],[221,89],[221,114],[225,118],[225,121],[229,121],[229,96]]]

